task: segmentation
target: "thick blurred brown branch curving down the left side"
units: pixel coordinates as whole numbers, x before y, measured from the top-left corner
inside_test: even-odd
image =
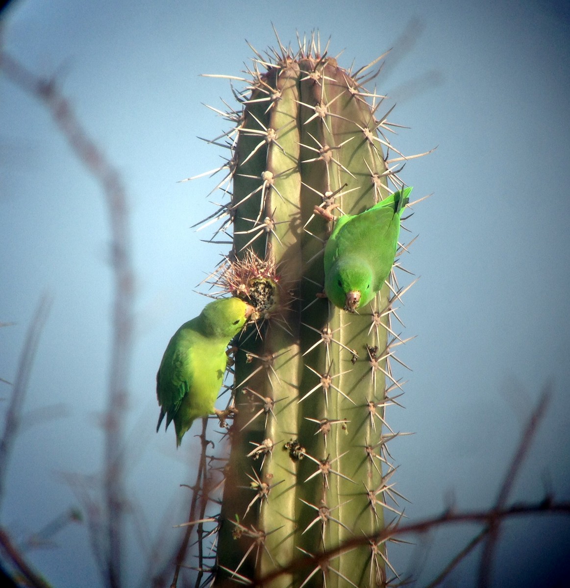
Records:
[[[59,92],[54,79],[42,79],[29,72],[5,52],[0,68],[16,85],[41,100],[68,140],[75,155],[101,185],[112,238],[112,268],[115,277],[113,341],[105,413],[106,582],[121,586],[124,526],[124,455],[122,431],[126,419],[128,366],[132,353],[133,273],[131,234],[126,193],[118,171],[82,128],[70,103]]]

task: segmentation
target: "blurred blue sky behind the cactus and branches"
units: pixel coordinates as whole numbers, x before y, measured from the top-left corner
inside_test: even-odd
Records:
[[[394,430],[415,432],[391,446],[396,489],[411,500],[405,515],[491,507],[547,382],[554,397],[511,499],[570,499],[567,2],[20,0],[2,12],[4,51],[55,79],[128,193],[128,586],[148,585],[183,532],[172,525],[185,520],[189,491],[179,485],[194,482],[197,445],[189,435],[176,452],[173,430],[155,433],[155,373],[172,333],[204,305],[196,285],[228,250],[190,228],[215,210],[206,195],[221,176],[177,183],[226,155],[198,137],[228,128],[203,104],[231,104],[229,82],[199,75],[240,75],[253,55],[246,40],[276,46],[272,23],[294,47],[296,31],[320,31],[323,45],[330,35],[329,54],[342,52],[347,68],[394,47],[375,80],[397,104],[390,120],[409,127],[392,142],[406,155],[438,146],[400,174],[416,198],[433,193],[406,223],[419,238],[405,266],[421,279],[399,314],[417,337],[400,353],[413,369],[406,409],[388,412]],[[14,323],[0,329],[2,380],[14,382],[39,300],[52,299],[1,523],[55,586],[96,586],[88,529],[65,522],[82,507],[69,480],[96,487],[102,467],[108,211],[45,106],[2,72],[0,219],[0,323]],[[0,381],[0,414],[11,391]],[[49,524],[38,546],[26,543]],[[391,562],[423,586],[475,533],[414,537],[416,547],[391,549]],[[474,585],[478,553],[445,585]],[[568,517],[521,518],[503,527],[494,586],[562,586],[569,558]]]

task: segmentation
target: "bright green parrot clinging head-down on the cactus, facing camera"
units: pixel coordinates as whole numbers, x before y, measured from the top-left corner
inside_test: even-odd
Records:
[[[338,308],[355,312],[384,285],[394,264],[400,219],[411,191],[394,192],[367,211],[336,221],[325,247],[325,293]]]

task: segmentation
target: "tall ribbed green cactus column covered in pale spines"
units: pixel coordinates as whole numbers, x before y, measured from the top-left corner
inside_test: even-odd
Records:
[[[384,155],[394,151],[384,136],[390,123],[378,117],[381,97],[364,89],[375,62],[353,73],[326,49],[321,54],[315,38],[308,50],[299,46],[293,54],[279,42],[269,60],[256,52],[251,81],[238,95],[242,112],[228,115],[237,122],[228,133],[235,137],[231,203],[221,209],[233,222],[230,258],[269,260],[280,293],[261,336],[249,332],[237,343],[238,413],[215,586],[256,583],[304,553],[372,536],[384,528],[386,501],[399,516],[386,450],[395,434],[384,420],[385,406],[401,393],[389,362],[402,343],[391,328],[394,270],[392,287],[359,314],[319,297],[332,223],[314,209],[338,216],[370,208],[402,187],[388,165],[403,158]],[[365,540],[268,585],[384,586],[394,573],[385,562],[385,544]]]

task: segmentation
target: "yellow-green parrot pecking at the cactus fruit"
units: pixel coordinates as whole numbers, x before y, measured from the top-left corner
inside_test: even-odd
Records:
[[[161,406],[156,432],[165,415],[165,430],[174,420],[176,447],[194,419],[215,412],[228,343],[244,328],[253,310],[239,298],[215,300],[184,323],[168,343],[156,374],[156,396]]]

